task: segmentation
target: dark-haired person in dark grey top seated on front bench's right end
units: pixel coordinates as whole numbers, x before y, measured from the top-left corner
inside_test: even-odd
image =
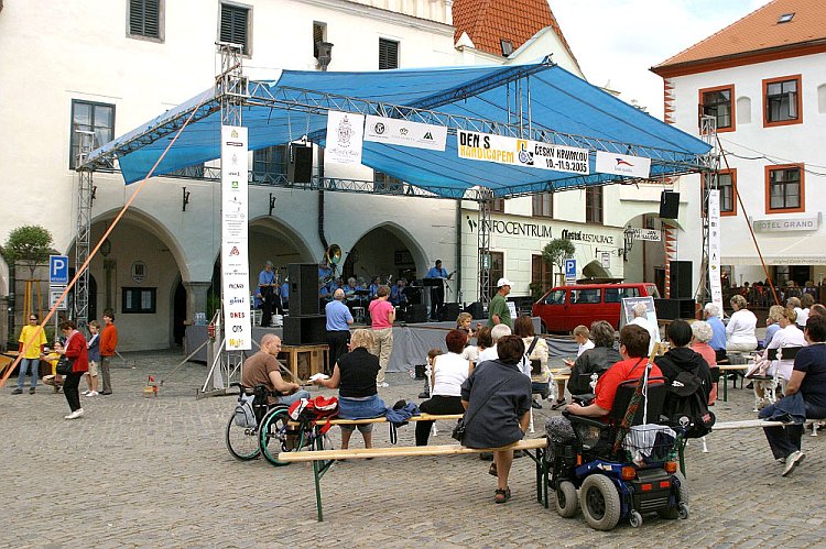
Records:
[[[522,338],[504,336],[497,343],[499,359],[480,363],[461,384],[467,448],[501,448],[524,437],[531,411],[531,380],[519,370],[525,353]],[[508,475],[513,450],[493,452],[496,503],[511,498]]]

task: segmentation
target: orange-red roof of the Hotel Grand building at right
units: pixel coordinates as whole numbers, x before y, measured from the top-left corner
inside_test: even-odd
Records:
[[[786,23],[781,15],[793,13]],[[656,65],[656,74],[692,74],[711,62],[729,65],[765,61],[768,54],[826,46],[826,2],[824,0],[774,0],[711,36]],[[800,53],[797,53],[800,55]],[[695,67],[692,70],[689,67]]]

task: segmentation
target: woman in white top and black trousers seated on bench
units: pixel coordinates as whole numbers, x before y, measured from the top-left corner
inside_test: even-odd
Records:
[[[425,414],[464,414],[461,406],[461,384],[470,375],[472,364],[461,358],[467,343],[467,333],[450,330],[445,336],[447,354],[439,354],[433,360],[431,374],[431,398],[423,402],[419,409]],[[416,446],[427,446],[433,421],[416,421]]]

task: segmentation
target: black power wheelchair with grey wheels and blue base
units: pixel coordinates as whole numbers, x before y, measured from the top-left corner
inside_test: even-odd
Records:
[[[648,417],[660,418],[664,382],[663,377],[649,380],[632,426],[642,426],[646,406]],[[688,487],[677,472],[678,432],[657,425],[639,427],[620,435],[623,443],[613,451],[637,385],[638,381],[627,381],[618,386],[608,422],[563,413],[572,422],[575,439],[554,444],[550,487],[555,491],[559,516],[570,518],[579,507],[597,530],[611,530],[623,518],[638,528],[645,513],[688,518]]]

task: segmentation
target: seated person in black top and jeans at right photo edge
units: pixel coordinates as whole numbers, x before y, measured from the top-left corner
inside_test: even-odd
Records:
[[[809,316],[805,337],[809,347],[801,349],[794,359],[785,397],[760,413],[763,419],[793,414],[800,421],[785,427],[763,428],[774,459],[785,463],[783,476],[789,476],[806,457],[801,450],[803,418],[826,418],[826,317]]]

